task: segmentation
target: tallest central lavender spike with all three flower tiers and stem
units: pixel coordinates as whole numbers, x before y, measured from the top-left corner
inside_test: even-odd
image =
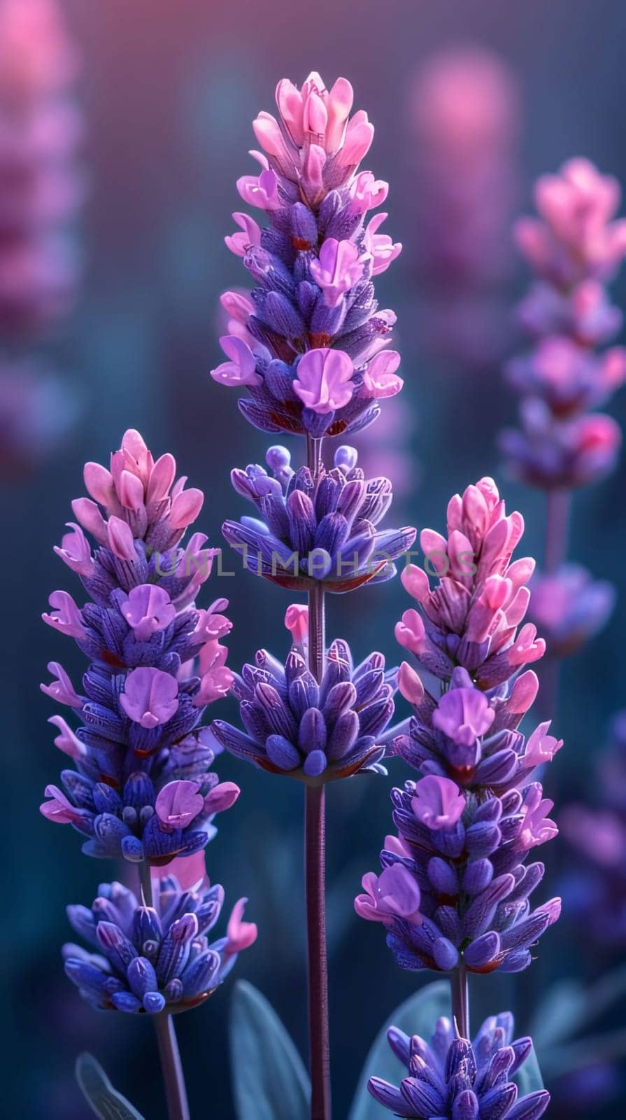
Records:
[[[233,470],[234,488],[258,516],[227,520],[222,531],[246,570],[306,591],[308,605],[287,610],[293,644],[284,665],[262,650],[235,679],[245,734],[222,720],[213,731],[232,754],[306,786],[310,1110],[329,1120],[325,783],[381,772],[395,673],[385,673],[379,653],[355,669],[346,642],[327,647],[325,595],[391,578],[415,532],[377,530],[391,483],[366,478],[347,444],[327,469],[323,444],[365,429],[379,402],[402,388],[400,355],[387,349],[395,315],[379,310],[373,282],[401,245],[381,231],[386,214],[371,214],[389,187],[359,169],[373,128],[364,112],[351,115],[349,82],[326,88],[311,73],[299,88],[283,80],[275,100],[278,119],[262,112],[253,122],[261,172],[237,183],[265,224],[235,214],[239,231],[227,239],[254,287],[222,297],[230,361],[213,377],[245,386],[240,409],[256,428],[305,436],[306,464],[295,469],[291,452],[274,445],[265,457],[271,473],[259,464]]]

